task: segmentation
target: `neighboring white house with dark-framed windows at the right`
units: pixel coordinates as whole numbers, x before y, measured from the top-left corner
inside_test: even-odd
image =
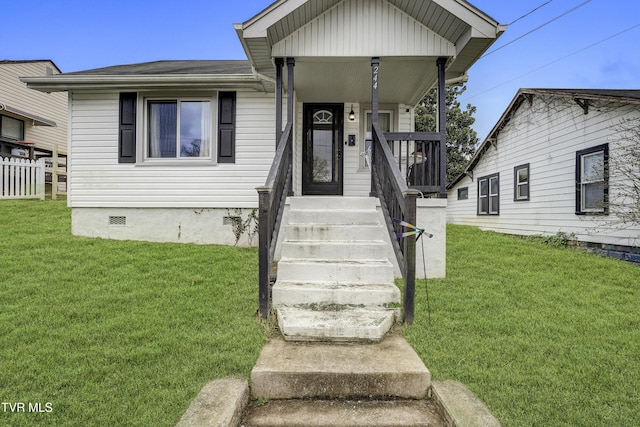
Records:
[[[640,261],[640,226],[621,226],[616,216],[625,188],[639,184],[621,172],[629,161],[623,148],[640,144],[623,128],[638,120],[640,90],[521,89],[449,185],[447,221],[515,235],[566,233]]]

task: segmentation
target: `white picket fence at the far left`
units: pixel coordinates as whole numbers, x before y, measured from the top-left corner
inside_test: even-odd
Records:
[[[44,159],[0,157],[0,199],[44,200]]]

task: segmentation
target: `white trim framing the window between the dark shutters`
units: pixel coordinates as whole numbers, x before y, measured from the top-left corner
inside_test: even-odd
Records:
[[[149,148],[149,101],[209,101],[211,122],[209,157],[152,158]],[[139,92],[137,114],[136,166],[215,166],[218,164],[218,92]]]

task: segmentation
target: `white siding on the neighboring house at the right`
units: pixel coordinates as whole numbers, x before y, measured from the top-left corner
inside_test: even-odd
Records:
[[[536,96],[524,102],[498,133],[473,170],[449,190],[447,221],[508,234],[573,233],[581,241],[637,245],[640,227],[620,230],[607,224],[613,216],[575,214],[576,152],[609,144],[610,158],[619,152],[616,126],[623,118],[639,117],[637,106],[592,101],[589,114],[571,100]],[[514,201],[514,167],[529,164],[529,201]],[[477,179],[500,173],[500,214],[477,215]],[[610,197],[614,198],[615,171]],[[457,190],[469,188],[468,200]]]

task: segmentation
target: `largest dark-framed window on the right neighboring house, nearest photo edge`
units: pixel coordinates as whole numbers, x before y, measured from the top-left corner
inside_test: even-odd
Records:
[[[576,153],[576,214],[608,214],[609,145]]]

